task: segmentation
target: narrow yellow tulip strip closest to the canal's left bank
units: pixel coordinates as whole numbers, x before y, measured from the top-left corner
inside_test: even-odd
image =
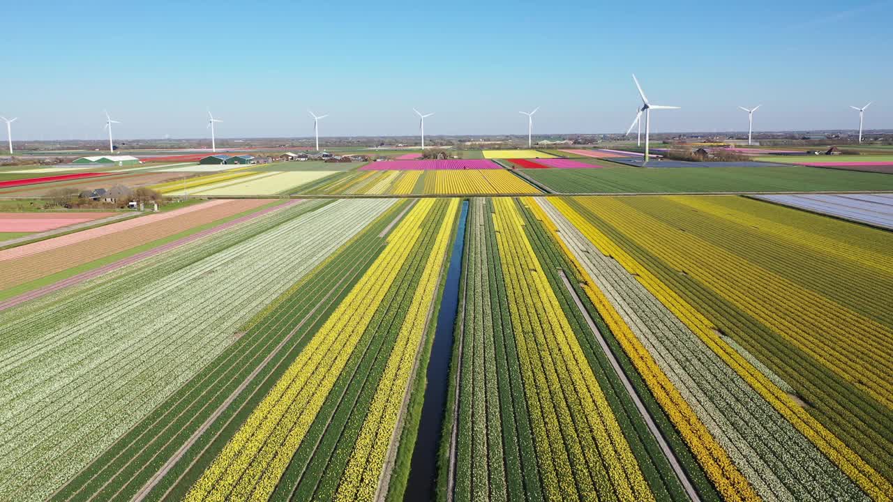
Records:
[[[421,280],[397,335],[394,350],[388,356],[388,363],[372,398],[369,414],[363,421],[353,453],[347,461],[336,500],[371,500],[375,496],[385,457],[395,433],[397,418],[408,391],[407,385],[419,351],[421,337],[428,326],[430,307],[447,256],[458,206],[458,199],[449,202],[446,218],[440,225],[434,247],[421,273]]]

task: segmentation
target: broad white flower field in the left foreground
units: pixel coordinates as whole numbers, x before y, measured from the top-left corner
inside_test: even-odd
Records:
[[[0,499],[46,498],[392,203],[324,205],[132,288],[126,273],[91,281],[109,295],[34,312],[50,316],[39,331],[0,322],[21,340],[0,352]]]

